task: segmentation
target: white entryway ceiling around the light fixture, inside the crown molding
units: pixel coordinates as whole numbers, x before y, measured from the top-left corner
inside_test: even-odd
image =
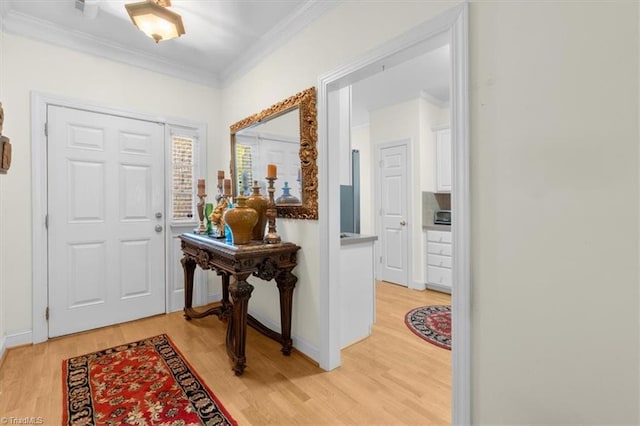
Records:
[[[183,36],[158,44],[132,24],[141,0],[0,0],[0,28],[222,86],[335,6],[319,0],[172,0]],[[97,12],[97,13],[96,13]]]

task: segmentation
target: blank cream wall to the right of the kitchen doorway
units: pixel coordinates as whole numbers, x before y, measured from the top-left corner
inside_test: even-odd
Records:
[[[638,3],[470,12],[473,420],[638,424]]]

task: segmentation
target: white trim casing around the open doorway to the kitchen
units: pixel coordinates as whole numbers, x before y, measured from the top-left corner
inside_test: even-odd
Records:
[[[328,231],[321,240],[320,366],[331,370],[340,365],[339,317],[339,173],[340,152],[330,143],[327,117],[329,93],[382,72],[406,60],[433,50],[446,37],[450,46],[450,114],[452,141],[452,327],[456,336],[452,351],[452,422],[470,422],[470,216],[468,140],[468,5],[456,6],[386,43],[352,64],[326,74],[318,83],[319,169],[325,183],[320,193],[320,228]],[[419,163],[418,163],[419,165]],[[362,198],[365,197],[363,189]],[[414,220],[415,222],[415,220]],[[414,224],[415,226],[416,224]],[[415,271],[414,271],[415,272]],[[417,274],[414,274],[417,275]]]

